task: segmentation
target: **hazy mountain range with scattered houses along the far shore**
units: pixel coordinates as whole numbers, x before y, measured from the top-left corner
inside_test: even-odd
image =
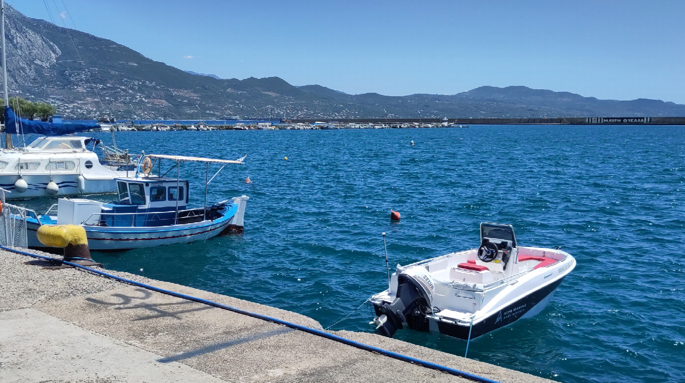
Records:
[[[221,79],[146,58],[112,40],[24,16],[5,5],[10,97],[53,104],[68,118],[273,119],[685,116],[685,105],[600,100],[525,86],[455,95],[349,95],[279,77]]]

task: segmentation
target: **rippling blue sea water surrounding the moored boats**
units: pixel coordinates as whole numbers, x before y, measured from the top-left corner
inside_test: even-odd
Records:
[[[577,267],[543,312],[471,341],[469,358],[567,383],[685,381],[685,127],[121,132],[117,142],[247,153],[210,184],[209,201],[250,199],[243,234],[95,253],[108,269],[327,327],[386,288],[382,232],[392,268],[477,247],[482,221],[511,223],[521,245],[561,246]],[[204,165],[184,164],[182,175],[201,206]],[[333,329],[371,332],[371,319],[362,306]],[[460,356],[466,347],[411,330],[395,337]]]

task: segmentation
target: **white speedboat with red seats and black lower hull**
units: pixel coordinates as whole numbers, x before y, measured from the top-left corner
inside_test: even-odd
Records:
[[[480,247],[397,265],[373,295],[376,333],[404,325],[473,339],[542,311],[575,267],[566,251],[520,247],[511,225],[481,223]]]

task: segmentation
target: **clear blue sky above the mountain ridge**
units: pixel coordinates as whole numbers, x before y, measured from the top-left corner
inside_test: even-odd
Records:
[[[50,20],[47,3],[58,25],[66,5],[76,29],[224,78],[384,95],[523,85],[685,103],[682,0],[6,1]]]

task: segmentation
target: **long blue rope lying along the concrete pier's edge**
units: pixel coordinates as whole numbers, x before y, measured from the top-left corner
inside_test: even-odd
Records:
[[[176,293],[175,291],[164,290],[164,288],[158,288],[158,287],[155,287],[155,286],[151,286],[151,285],[149,285],[149,284],[144,284],[144,283],[136,282],[136,281],[133,281],[133,280],[127,280],[127,279],[125,279],[125,278],[118,277],[118,276],[116,276],[116,275],[112,275],[112,274],[109,274],[109,273],[104,273],[103,271],[91,269],[90,267],[81,266],[80,264],[77,264],[77,263],[67,262],[67,261],[65,261],[65,260],[59,260],[59,259],[56,259],[56,258],[50,258],[50,257],[46,257],[46,256],[39,256],[38,254],[27,253],[26,251],[16,250],[16,249],[12,249],[12,248],[10,248],[10,247],[5,247],[5,246],[1,246],[1,245],[0,245],[0,249],[5,249],[5,250],[7,250],[7,251],[12,251],[13,253],[16,253],[16,254],[22,254],[22,255],[25,255],[25,256],[33,257],[33,258],[39,258],[39,259],[43,259],[43,260],[51,260],[51,261],[55,261],[55,262],[60,262],[60,263],[62,263],[62,264],[68,264],[69,266],[75,267],[75,268],[77,268],[77,269],[82,269],[82,270],[84,270],[84,271],[88,271],[89,273],[93,273],[93,274],[96,274],[96,275],[101,275],[101,276],[103,276],[103,277],[108,277],[108,278],[111,278],[111,279],[113,279],[113,280],[117,280],[117,281],[119,281],[119,282],[123,282],[123,283],[125,283],[125,284],[131,284],[131,285],[133,285],[133,286],[138,286],[138,287],[142,287],[142,288],[147,288],[148,290],[156,291],[156,292],[158,292],[158,293],[162,293],[162,294],[166,294],[166,295],[171,295],[172,297],[177,297],[177,298],[181,298],[181,299],[187,299],[187,300],[189,300],[189,301],[195,301],[195,302],[197,302],[197,303],[206,304],[206,305],[208,305],[208,306],[213,306],[213,307],[216,307],[216,308],[221,308],[221,309],[223,309],[223,310],[228,310],[228,311],[236,312],[236,313],[238,313],[238,314],[247,315],[248,317],[253,317],[253,318],[257,318],[257,319],[262,319],[262,320],[264,320],[264,321],[269,321],[269,322],[271,322],[271,323],[276,323],[276,324],[279,324],[279,325],[284,325],[284,326],[289,327],[289,328],[294,328],[295,330],[300,330],[300,331],[303,331],[303,332],[308,332],[309,334],[314,334],[314,335],[316,335],[316,336],[321,336],[321,337],[323,337],[323,338],[327,338],[327,339],[330,339],[330,340],[332,340],[332,341],[340,342],[340,343],[343,343],[343,344],[345,344],[345,345],[349,345],[349,346],[352,346],[352,347],[357,347],[358,349],[363,349],[363,350],[371,351],[371,352],[377,352],[378,354],[382,354],[382,355],[388,356],[388,357],[390,357],[390,358],[394,358],[394,359],[397,359],[397,360],[401,360],[401,361],[403,361],[403,362],[414,363],[414,364],[416,364],[416,365],[420,365],[420,366],[423,366],[423,367],[426,367],[426,368],[429,368],[429,369],[435,369],[435,370],[438,370],[438,371],[443,371],[443,372],[449,373],[449,374],[451,374],[451,375],[459,376],[459,377],[461,377],[461,378],[466,378],[466,379],[470,379],[470,380],[475,380],[476,382],[482,382],[482,383],[499,383],[499,382],[497,382],[496,380],[484,378],[484,377],[482,377],[482,376],[474,375],[474,374],[472,374],[472,373],[467,373],[466,371],[461,371],[461,370],[458,370],[458,369],[453,369],[453,368],[451,368],[451,367],[447,367],[447,366],[443,366],[443,365],[438,365],[438,364],[433,363],[433,362],[427,362],[426,360],[421,360],[421,359],[417,359],[417,358],[412,358],[411,356],[406,356],[406,355],[402,355],[402,354],[397,354],[396,352],[388,351],[388,350],[386,350],[386,349],[382,349],[382,348],[379,348],[379,347],[373,347],[373,346],[370,346],[370,345],[365,345],[364,343],[360,343],[360,342],[356,342],[356,341],[351,341],[351,340],[349,340],[349,339],[347,339],[347,338],[343,338],[342,336],[338,336],[338,335],[335,335],[335,334],[330,334],[330,333],[325,332],[325,331],[323,331],[323,330],[317,330],[317,329],[315,329],[315,328],[309,328],[309,327],[307,327],[307,326],[298,325],[297,323],[291,323],[291,322],[288,322],[288,321],[283,321],[283,320],[281,320],[281,319],[277,319],[277,318],[273,318],[273,317],[268,317],[268,316],[266,316],[266,315],[258,314],[258,313],[256,313],[256,312],[249,312],[249,311],[242,310],[242,309],[240,309],[240,308],[236,308],[236,307],[233,307],[233,306],[227,306],[227,305],[225,305],[225,304],[220,304],[220,303],[217,303],[217,302],[214,302],[214,301],[210,301],[210,300],[208,300],[208,299],[202,299],[202,298],[198,298],[198,297],[193,297],[192,295],[186,295],[186,294],[182,294],[182,293]]]

